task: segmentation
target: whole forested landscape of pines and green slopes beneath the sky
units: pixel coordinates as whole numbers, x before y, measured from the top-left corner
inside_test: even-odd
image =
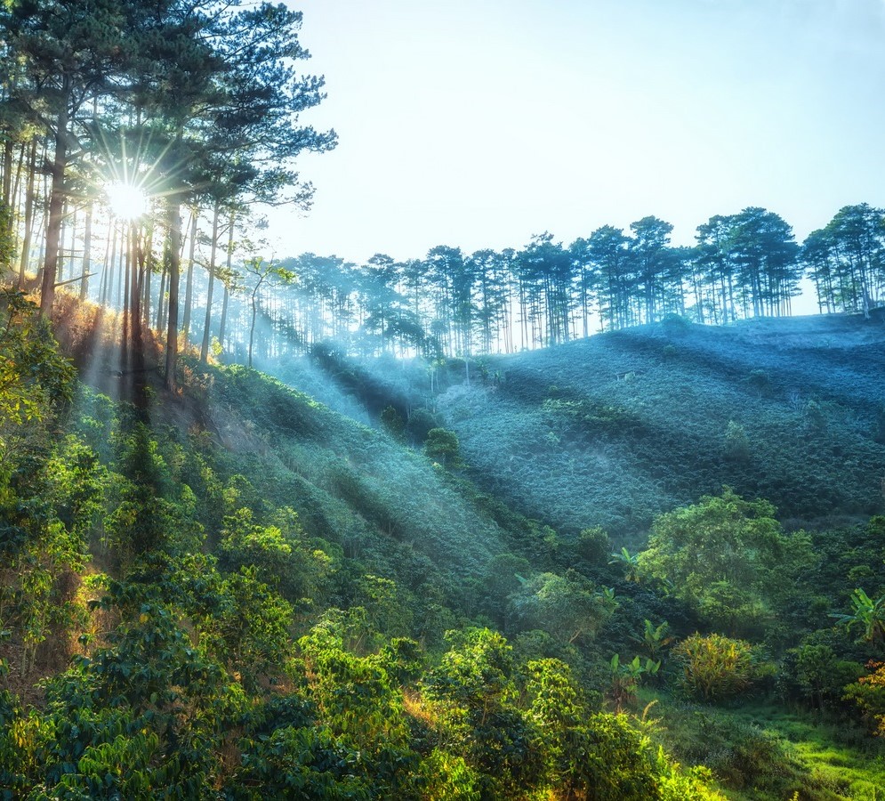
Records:
[[[2,796],[881,798],[885,211],[270,255],[301,28],[0,4]]]

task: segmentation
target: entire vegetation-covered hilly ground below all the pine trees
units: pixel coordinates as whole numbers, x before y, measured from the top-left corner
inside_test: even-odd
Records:
[[[184,354],[170,394],[89,307],[56,319],[80,381],[20,295],[0,309],[5,795],[885,779],[881,323],[669,320],[470,366],[326,350],[289,386]]]

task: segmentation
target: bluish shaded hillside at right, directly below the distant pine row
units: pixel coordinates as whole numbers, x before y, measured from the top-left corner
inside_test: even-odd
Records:
[[[435,399],[470,474],[564,532],[637,536],[723,485],[805,522],[881,512],[881,317],[683,320],[483,360]]]

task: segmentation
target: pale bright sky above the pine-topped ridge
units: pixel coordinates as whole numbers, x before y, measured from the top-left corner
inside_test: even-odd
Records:
[[[278,255],[566,245],[648,214],[692,244],[764,206],[799,241],[885,206],[885,0],[288,0],[339,135]]]

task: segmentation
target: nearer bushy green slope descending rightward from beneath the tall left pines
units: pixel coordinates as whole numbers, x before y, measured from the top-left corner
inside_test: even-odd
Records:
[[[242,368],[115,403],[3,311],[5,793],[703,795],[481,625],[504,535],[430,461]]]

